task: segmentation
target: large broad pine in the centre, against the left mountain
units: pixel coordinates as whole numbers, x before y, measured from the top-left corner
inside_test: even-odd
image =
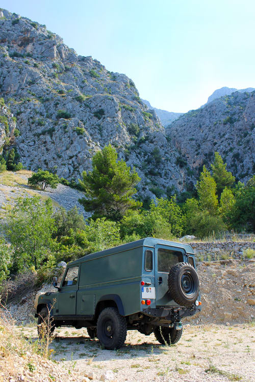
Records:
[[[82,174],[80,184],[86,199],[79,201],[86,211],[94,212],[93,219],[107,217],[119,221],[128,211],[142,206],[132,199],[137,192],[135,185],[140,181],[137,172],[127,167],[122,159],[117,161],[116,150],[111,145],[93,156],[92,168],[89,173]]]

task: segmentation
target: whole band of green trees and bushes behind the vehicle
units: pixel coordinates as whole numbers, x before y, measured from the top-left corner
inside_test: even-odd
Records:
[[[4,238],[0,242],[0,284],[25,270],[35,272],[41,283],[52,278],[61,260],[146,236],[173,240],[184,234],[202,238],[231,229],[254,230],[255,176],[246,185],[234,185],[218,153],[212,170],[211,174],[203,167],[197,194],[185,202],[170,195],[151,200],[144,209],[134,199],[137,173],[123,160],[117,161],[115,149],[107,146],[95,154],[93,170],[80,181],[88,198],[81,203],[94,212],[91,219],[85,221],[76,207],[54,212],[48,200],[17,199],[4,227],[10,247]]]

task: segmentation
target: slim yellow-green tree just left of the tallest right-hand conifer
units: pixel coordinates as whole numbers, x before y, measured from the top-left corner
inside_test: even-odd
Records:
[[[210,215],[217,214],[218,199],[216,195],[216,182],[210,172],[203,166],[199,181],[196,183],[199,198],[199,207],[202,211],[208,211]]]

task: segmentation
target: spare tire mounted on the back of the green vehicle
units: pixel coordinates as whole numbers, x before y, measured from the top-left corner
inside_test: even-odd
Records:
[[[199,294],[199,279],[193,266],[189,263],[173,265],[168,275],[168,288],[175,303],[192,305]]]

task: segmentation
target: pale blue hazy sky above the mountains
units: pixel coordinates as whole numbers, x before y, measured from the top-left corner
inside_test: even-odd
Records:
[[[223,86],[255,88],[254,0],[1,0],[0,7],[125,73],[158,108],[187,112]]]

